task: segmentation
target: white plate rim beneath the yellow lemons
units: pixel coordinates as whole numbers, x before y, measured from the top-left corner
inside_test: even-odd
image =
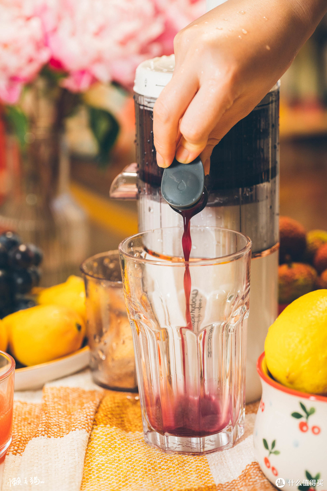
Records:
[[[15,370],[15,390],[36,390],[46,382],[72,375],[89,364],[88,346],[75,351],[71,355],[62,356],[56,360],[40,363],[31,367]]]

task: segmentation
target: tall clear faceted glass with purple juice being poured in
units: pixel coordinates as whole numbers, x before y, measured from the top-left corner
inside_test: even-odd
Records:
[[[142,232],[119,252],[145,440],[204,454],[244,432],[251,240],[191,227],[185,262],[182,235],[180,227]]]

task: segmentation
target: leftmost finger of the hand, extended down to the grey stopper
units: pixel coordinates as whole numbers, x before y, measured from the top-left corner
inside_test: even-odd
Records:
[[[168,167],[175,158],[180,139],[179,121],[198,90],[191,70],[174,73],[153,108],[153,141],[159,167]]]

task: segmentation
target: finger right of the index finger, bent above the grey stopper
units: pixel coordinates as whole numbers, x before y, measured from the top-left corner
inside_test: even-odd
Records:
[[[227,84],[213,81],[201,85],[179,125],[182,134],[176,151],[179,162],[189,164],[200,155],[210,133],[233,101]]]

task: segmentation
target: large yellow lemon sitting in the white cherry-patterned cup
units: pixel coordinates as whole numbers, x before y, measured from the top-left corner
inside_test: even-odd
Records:
[[[290,303],[269,327],[266,362],[286,387],[327,393],[327,290],[316,290]]]

